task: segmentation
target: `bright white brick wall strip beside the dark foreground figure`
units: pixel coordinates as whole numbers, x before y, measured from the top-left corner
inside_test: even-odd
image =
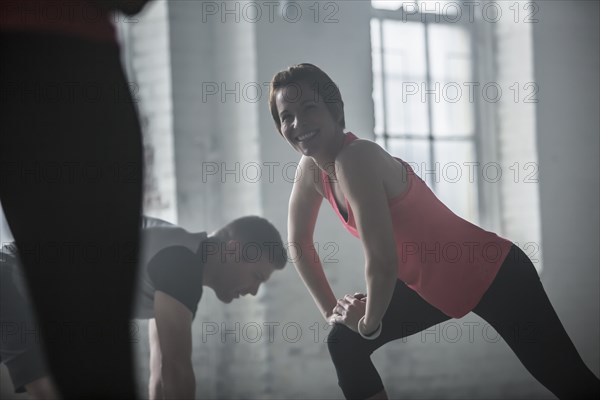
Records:
[[[124,65],[134,85],[144,134],[144,213],[176,222],[167,3],[153,1],[140,15],[118,21]]]

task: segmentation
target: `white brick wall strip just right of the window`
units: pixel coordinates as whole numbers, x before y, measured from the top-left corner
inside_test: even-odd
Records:
[[[502,18],[495,26],[496,82],[503,88],[497,103],[499,159],[503,178],[502,233],[517,242],[542,269],[539,212],[539,164],[536,149],[532,23],[525,22],[530,2],[499,3]],[[511,7],[509,9],[509,7]],[[519,14],[516,14],[516,9]],[[515,22],[515,17],[518,22]],[[515,86],[516,84],[516,86]],[[518,87],[518,89],[517,89]],[[513,89],[510,89],[513,88]],[[531,102],[530,102],[531,101]]]

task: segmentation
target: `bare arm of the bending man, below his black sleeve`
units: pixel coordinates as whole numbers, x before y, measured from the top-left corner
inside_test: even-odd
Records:
[[[170,295],[154,294],[154,318],[162,363],[165,399],[193,399],[196,378],[192,367],[192,312]]]

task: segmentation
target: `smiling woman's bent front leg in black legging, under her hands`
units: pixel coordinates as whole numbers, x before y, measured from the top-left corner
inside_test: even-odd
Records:
[[[383,330],[375,340],[363,339],[345,325],[334,325],[328,337],[329,353],[338,383],[348,399],[386,399],[381,377],[371,354],[385,343],[410,336],[449,317],[398,281],[383,317]]]

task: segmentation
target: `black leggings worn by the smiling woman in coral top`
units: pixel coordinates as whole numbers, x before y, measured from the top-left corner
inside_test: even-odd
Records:
[[[516,245],[473,312],[496,329],[527,370],[558,398],[598,398],[600,381],[577,353],[535,267]],[[345,397],[364,399],[383,390],[370,359],[375,350],[449,319],[398,281],[379,338],[365,340],[336,324],[328,346]]]

